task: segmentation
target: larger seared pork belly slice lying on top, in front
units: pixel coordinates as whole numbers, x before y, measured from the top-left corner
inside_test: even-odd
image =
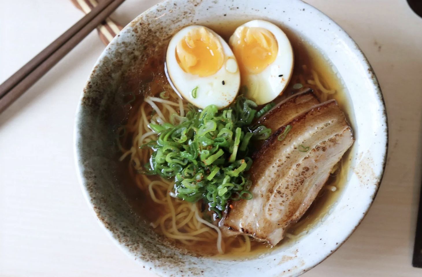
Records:
[[[286,126],[252,156],[253,198],[232,203],[219,223],[225,234],[248,234],[276,245],[287,226],[303,216],[354,141],[334,100],[311,108],[289,125],[292,128],[284,140],[277,138]]]

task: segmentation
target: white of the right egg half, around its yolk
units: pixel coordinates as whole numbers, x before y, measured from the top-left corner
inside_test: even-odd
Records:
[[[283,93],[293,73],[293,49],[287,35],[276,25],[264,20],[252,20],[240,27],[260,27],[273,33],[278,44],[276,59],[258,74],[241,76],[246,85],[245,96],[254,99],[258,105],[273,101]],[[283,75],[279,77],[279,75]]]

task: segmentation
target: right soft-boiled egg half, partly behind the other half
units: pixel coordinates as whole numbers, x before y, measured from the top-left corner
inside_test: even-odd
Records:
[[[293,50],[286,34],[264,20],[238,27],[229,40],[239,64],[244,94],[258,105],[283,93],[293,71]]]

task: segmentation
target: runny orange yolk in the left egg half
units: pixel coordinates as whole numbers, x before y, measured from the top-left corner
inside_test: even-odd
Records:
[[[224,53],[218,38],[200,27],[192,29],[179,41],[176,60],[184,72],[207,77],[222,67]]]

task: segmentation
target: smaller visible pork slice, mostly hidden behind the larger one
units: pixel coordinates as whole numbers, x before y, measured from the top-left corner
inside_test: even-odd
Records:
[[[317,104],[319,104],[318,99],[314,96],[313,91],[308,88],[276,104],[273,109],[258,120],[257,125],[264,125],[275,132],[278,128]]]

